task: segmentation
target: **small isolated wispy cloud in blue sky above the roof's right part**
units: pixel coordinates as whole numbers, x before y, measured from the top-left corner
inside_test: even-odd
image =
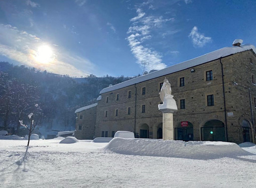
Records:
[[[205,37],[204,34],[199,33],[196,26],[191,30],[188,37],[192,39],[195,47],[203,47],[207,43],[212,42],[211,37]]]

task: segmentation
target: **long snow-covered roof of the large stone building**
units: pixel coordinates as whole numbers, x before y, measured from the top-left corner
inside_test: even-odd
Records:
[[[149,73],[149,74],[146,74],[146,75],[142,75],[140,77],[136,77],[134,79],[127,80],[127,81],[121,82],[119,84],[104,88],[100,91],[100,94],[106,93],[106,92],[109,92],[109,91],[114,91],[114,90],[124,88],[124,87],[127,87],[127,86],[131,86],[131,85],[134,85],[134,84],[137,84],[137,83],[140,83],[140,82],[144,82],[146,80],[151,80],[151,79],[158,78],[158,77],[161,77],[161,76],[164,76],[164,75],[175,73],[175,72],[178,72],[178,71],[181,71],[181,70],[185,70],[185,69],[197,66],[197,65],[201,65],[203,63],[207,63],[207,62],[219,59],[221,57],[226,57],[226,56],[229,56],[229,55],[232,55],[232,54],[235,54],[235,53],[238,53],[238,52],[243,52],[243,51],[246,51],[246,50],[250,50],[250,49],[252,49],[253,52],[256,53],[256,48],[253,45],[250,45],[250,44],[241,45],[240,47],[238,47],[238,46],[225,47],[225,48],[210,52],[208,54],[199,56],[197,58],[194,58],[194,59],[176,64],[176,65],[173,65],[171,67],[167,67],[165,69],[155,71],[155,72],[152,72],[152,73]]]

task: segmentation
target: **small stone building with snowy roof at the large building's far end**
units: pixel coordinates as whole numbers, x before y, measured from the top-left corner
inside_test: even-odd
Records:
[[[93,139],[95,134],[97,103],[78,108],[76,113],[75,137]]]

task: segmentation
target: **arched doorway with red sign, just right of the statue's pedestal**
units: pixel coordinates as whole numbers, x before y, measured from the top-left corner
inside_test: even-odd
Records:
[[[193,124],[189,121],[181,121],[175,128],[175,140],[193,140]]]

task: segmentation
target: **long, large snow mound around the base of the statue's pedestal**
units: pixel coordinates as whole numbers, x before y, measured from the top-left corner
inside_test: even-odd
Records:
[[[214,159],[252,155],[236,143],[180,140],[149,140],[113,138],[104,149],[128,155],[179,157],[189,159]]]

